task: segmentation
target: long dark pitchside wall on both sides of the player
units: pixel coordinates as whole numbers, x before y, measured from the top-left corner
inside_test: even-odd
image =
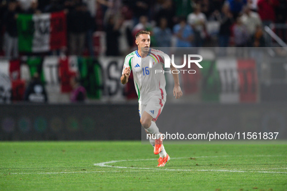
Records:
[[[136,103],[0,105],[0,141],[145,139]],[[287,104],[166,103],[161,133],[279,132],[287,139]],[[143,131],[143,133],[142,133]],[[142,136],[144,137],[141,137]]]

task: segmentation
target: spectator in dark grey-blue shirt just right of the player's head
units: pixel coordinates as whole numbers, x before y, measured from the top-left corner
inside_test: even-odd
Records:
[[[165,17],[159,20],[158,27],[155,27],[153,32],[157,47],[170,47],[172,33],[168,28],[168,20]]]

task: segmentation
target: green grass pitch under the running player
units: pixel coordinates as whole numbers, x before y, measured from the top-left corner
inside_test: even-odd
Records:
[[[287,190],[287,144],[165,148],[160,168],[139,141],[0,142],[0,190]]]

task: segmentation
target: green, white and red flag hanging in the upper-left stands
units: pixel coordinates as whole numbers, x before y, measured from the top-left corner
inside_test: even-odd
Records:
[[[47,52],[67,45],[67,24],[64,12],[19,14],[17,18],[20,52]]]

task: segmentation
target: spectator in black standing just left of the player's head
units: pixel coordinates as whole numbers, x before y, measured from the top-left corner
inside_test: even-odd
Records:
[[[107,27],[106,27],[106,55],[107,56],[118,56],[118,39],[120,36],[120,27],[123,19],[116,16],[110,16]]]

